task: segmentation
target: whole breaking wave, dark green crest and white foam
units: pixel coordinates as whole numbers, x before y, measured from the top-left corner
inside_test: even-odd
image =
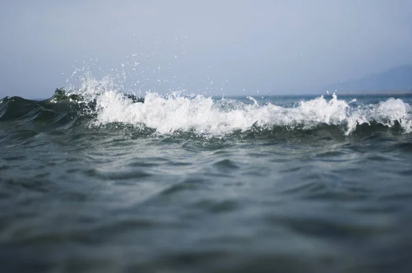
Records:
[[[259,104],[253,97],[214,98],[179,93],[159,95],[148,92],[143,97],[109,89],[57,89],[43,101],[5,97],[0,101],[0,122],[37,124],[47,130],[86,126],[87,128],[125,128],[148,134],[196,134],[222,137],[228,134],[273,134],[339,130],[350,135],[365,126],[371,130],[391,128],[412,132],[411,106],[401,99],[389,98],[378,104],[356,104],[320,96],[293,106],[271,102]],[[44,129],[46,130],[46,129]]]

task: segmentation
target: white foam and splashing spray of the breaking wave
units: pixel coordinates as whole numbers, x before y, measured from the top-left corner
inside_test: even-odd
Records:
[[[92,77],[87,77],[77,91],[73,87],[70,89],[70,92],[95,100],[97,115],[93,126],[124,123],[146,126],[157,134],[190,131],[205,137],[222,137],[252,128],[271,130],[278,126],[288,130],[310,130],[321,125],[339,126],[343,134],[349,135],[356,126],[364,123],[380,123],[388,127],[398,123],[403,132],[412,132],[411,106],[401,99],[356,105],[356,99],[346,102],[333,94],[330,100],[322,95],[298,102],[293,107],[284,107],[258,104],[253,97],[247,97],[245,101],[249,103],[245,103],[228,98],[184,96],[179,92],[159,95],[148,91],[144,103],[136,103],[124,96],[119,91],[121,88],[110,79],[99,81]]]

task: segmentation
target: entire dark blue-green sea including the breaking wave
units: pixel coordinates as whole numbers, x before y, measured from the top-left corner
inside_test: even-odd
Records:
[[[412,272],[412,95],[0,100],[0,272]]]

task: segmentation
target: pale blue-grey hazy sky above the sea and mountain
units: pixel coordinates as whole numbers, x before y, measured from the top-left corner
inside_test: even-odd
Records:
[[[0,97],[86,71],[125,92],[316,93],[412,63],[412,1],[1,1],[0,39]]]

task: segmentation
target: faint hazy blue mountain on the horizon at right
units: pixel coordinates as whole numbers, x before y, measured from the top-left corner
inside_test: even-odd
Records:
[[[328,91],[339,93],[412,93],[412,64],[389,69],[365,78],[349,80],[327,86]]]

